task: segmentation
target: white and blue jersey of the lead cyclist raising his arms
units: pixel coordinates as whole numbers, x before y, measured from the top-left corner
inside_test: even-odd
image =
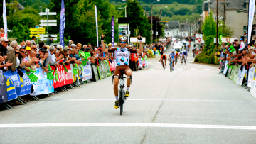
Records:
[[[129,65],[129,56],[131,53],[136,53],[136,49],[132,48],[110,48],[108,52],[114,52],[117,60],[117,66]]]

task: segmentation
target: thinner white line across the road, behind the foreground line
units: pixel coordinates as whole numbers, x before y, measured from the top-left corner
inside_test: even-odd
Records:
[[[115,99],[42,99],[41,101],[114,101]],[[205,101],[205,102],[236,102],[256,103],[256,101],[228,101],[228,100],[207,100],[207,99],[127,99],[128,101]]]

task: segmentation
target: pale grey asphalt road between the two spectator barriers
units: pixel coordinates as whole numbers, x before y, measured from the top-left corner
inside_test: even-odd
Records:
[[[256,100],[218,72],[191,53],[174,72],[149,59],[122,116],[107,77],[1,110],[0,143],[256,143]]]

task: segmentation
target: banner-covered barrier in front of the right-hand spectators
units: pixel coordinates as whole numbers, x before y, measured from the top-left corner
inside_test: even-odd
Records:
[[[256,98],[255,66],[248,68],[242,65],[228,65],[228,62],[225,62],[223,74],[235,84],[245,87]]]

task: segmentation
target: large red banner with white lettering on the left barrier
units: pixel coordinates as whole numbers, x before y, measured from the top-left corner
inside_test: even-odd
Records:
[[[55,77],[55,67],[51,66],[51,68],[54,71],[53,75]],[[54,89],[73,83],[73,74],[70,65],[66,65],[66,68],[68,72],[65,72],[63,65],[59,65],[59,67],[57,67],[58,81],[56,79],[53,79]]]

